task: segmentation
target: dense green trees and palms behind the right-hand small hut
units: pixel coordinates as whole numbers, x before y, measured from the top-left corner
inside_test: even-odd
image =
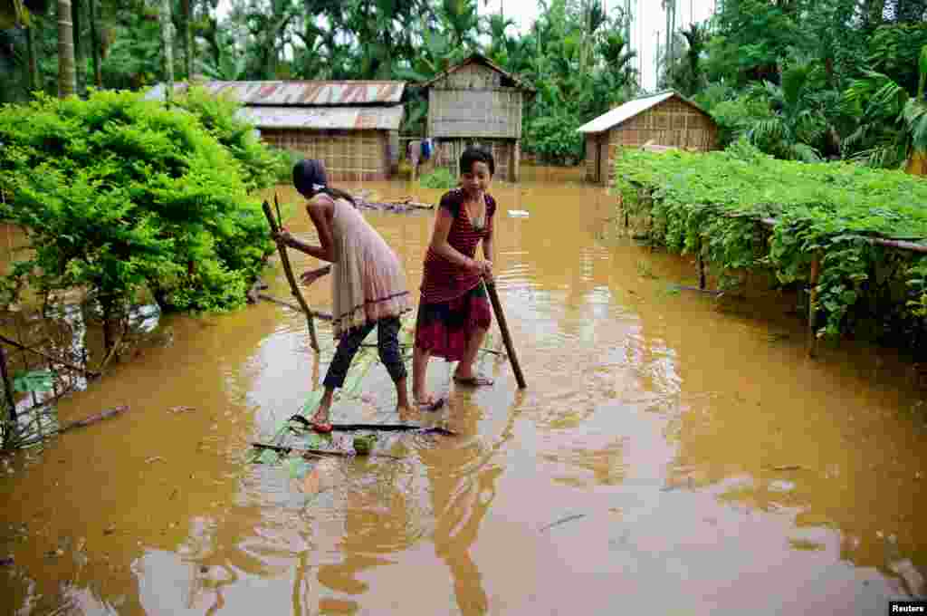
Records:
[[[927,2],[726,0],[664,50],[662,85],[693,96],[721,145],[787,160],[898,168],[927,149]]]

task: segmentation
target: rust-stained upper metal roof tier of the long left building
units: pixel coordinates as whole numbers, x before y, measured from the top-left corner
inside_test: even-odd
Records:
[[[405,82],[202,82],[214,94],[232,96],[245,105],[357,106],[399,103]],[[184,92],[186,83],[174,85]],[[159,83],[146,98],[164,99],[165,86]]]

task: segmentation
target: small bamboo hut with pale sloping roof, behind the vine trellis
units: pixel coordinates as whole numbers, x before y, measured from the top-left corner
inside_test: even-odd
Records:
[[[615,176],[618,148],[717,148],[714,119],[676,92],[635,98],[577,130],[586,135],[586,179],[609,186]]]

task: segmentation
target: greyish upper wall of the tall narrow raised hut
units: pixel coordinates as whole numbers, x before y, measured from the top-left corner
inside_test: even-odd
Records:
[[[522,92],[503,87],[502,75],[469,64],[428,90],[431,137],[521,138]]]

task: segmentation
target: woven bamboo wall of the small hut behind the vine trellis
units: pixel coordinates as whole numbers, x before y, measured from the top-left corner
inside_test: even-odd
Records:
[[[699,109],[669,98],[608,132],[607,169],[600,181],[611,186],[619,148],[640,148],[644,144],[706,152],[717,149],[717,124]],[[587,166],[590,162],[587,160]],[[593,162],[594,164],[594,162]]]

